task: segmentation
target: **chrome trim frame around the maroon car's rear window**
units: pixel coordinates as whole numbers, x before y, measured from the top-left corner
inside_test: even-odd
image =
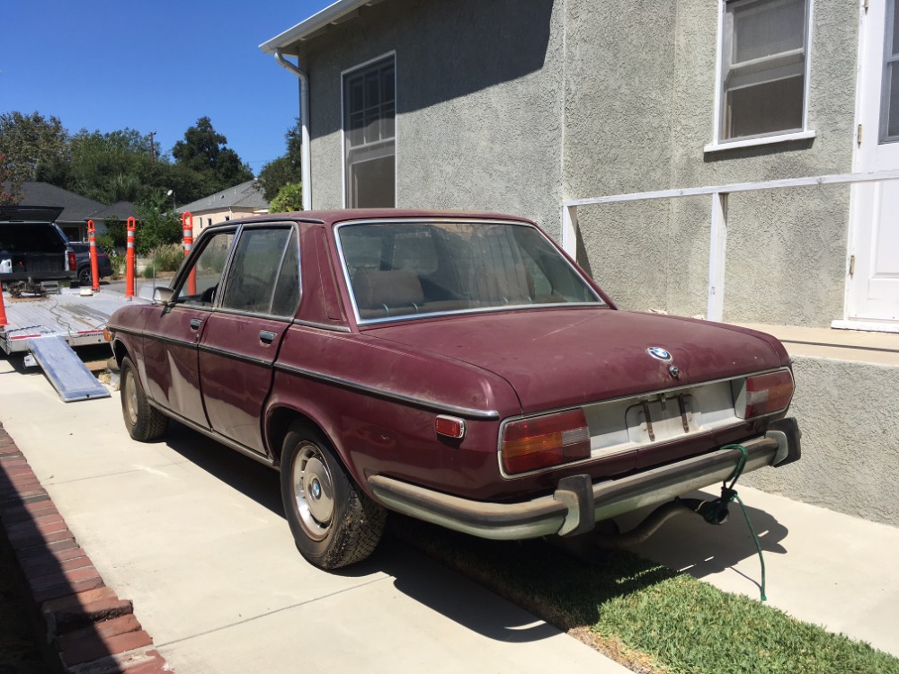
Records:
[[[546,305],[511,305],[511,306],[485,306],[479,307],[476,309],[461,309],[456,311],[443,311],[443,312],[432,312],[429,314],[409,314],[409,315],[399,315],[399,316],[386,316],[384,318],[360,318],[359,315],[359,307],[356,305],[356,295],[352,290],[352,282],[350,280],[350,270],[347,268],[346,257],[343,254],[343,242],[340,238],[340,230],[345,226],[359,226],[359,225],[392,225],[392,224],[400,224],[400,223],[408,223],[408,224],[456,224],[456,223],[471,223],[471,224],[484,224],[484,225],[508,225],[508,226],[524,226],[530,227],[530,229],[535,230],[540,236],[543,236],[547,242],[556,250],[556,253],[559,253],[559,257],[568,265],[568,268],[574,272],[574,275],[581,279],[583,285],[590,291],[593,297],[596,297],[596,302],[563,302],[560,304],[546,304]],[[362,218],[359,220],[345,220],[343,222],[337,223],[334,225],[334,244],[337,246],[337,254],[340,258],[340,266],[343,273],[343,282],[346,285],[347,294],[350,297],[350,304],[352,305],[352,314],[353,318],[356,321],[357,325],[372,325],[372,324],[382,324],[382,323],[392,323],[396,321],[409,321],[414,320],[415,318],[421,316],[449,316],[449,315],[461,315],[461,314],[473,314],[473,313],[490,313],[495,311],[508,311],[511,308],[514,309],[523,309],[523,308],[534,308],[534,307],[549,307],[549,306],[601,306],[605,308],[609,308],[609,305],[606,304],[605,300],[602,299],[600,294],[596,292],[596,290],[592,286],[592,279],[588,279],[581,270],[575,267],[570,260],[568,260],[565,254],[560,252],[559,245],[552,239],[552,237],[545,234],[538,226],[526,222],[524,220],[506,220],[503,218],[491,218],[491,217],[445,217],[445,216],[436,216],[436,217],[389,217],[389,218]]]

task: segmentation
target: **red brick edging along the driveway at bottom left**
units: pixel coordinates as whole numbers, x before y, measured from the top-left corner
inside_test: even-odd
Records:
[[[78,545],[28,460],[0,423],[0,525],[47,629],[72,674],[171,672],[127,599],[120,599]]]

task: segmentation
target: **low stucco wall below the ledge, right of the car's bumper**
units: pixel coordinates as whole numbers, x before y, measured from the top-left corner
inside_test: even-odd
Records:
[[[794,358],[802,460],[741,483],[899,526],[899,368]]]

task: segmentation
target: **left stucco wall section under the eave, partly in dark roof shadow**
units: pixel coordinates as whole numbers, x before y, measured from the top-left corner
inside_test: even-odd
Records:
[[[512,212],[558,235],[562,16],[552,0],[393,0],[312,40],[313,207],[343,203],[341,72],[396,51],[396,205]]]

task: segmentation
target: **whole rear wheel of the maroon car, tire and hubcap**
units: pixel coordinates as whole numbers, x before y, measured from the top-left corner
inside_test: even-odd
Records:
[[[280,481],[290,531],[309,563],[339,569],[374,552],[387,511],[346,474],[321,433],[303,426],[289,431]]]

